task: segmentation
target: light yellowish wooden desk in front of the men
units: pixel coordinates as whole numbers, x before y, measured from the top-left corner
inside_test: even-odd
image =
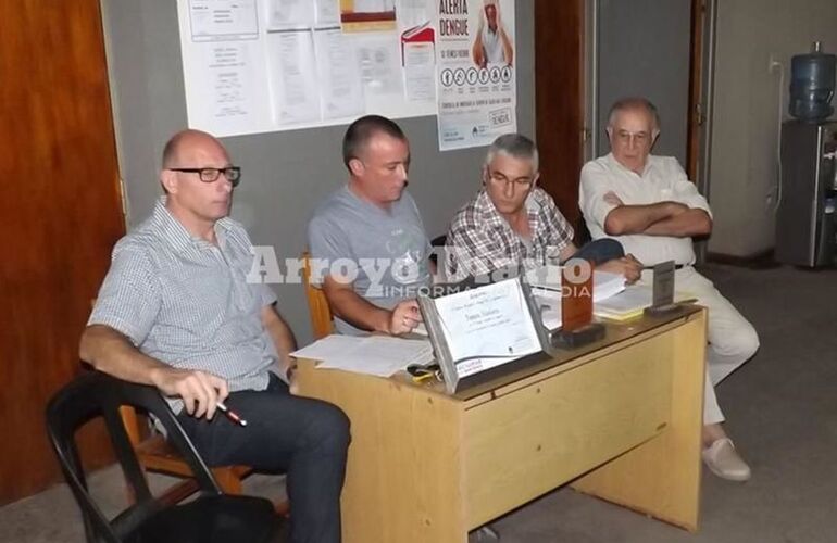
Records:
[[[566,482],[696,531],[705,311],[609,325],[604,340],[453,396],[315,369],[302,395],[339,405],[352,443],[347,543],[461,543]]]

